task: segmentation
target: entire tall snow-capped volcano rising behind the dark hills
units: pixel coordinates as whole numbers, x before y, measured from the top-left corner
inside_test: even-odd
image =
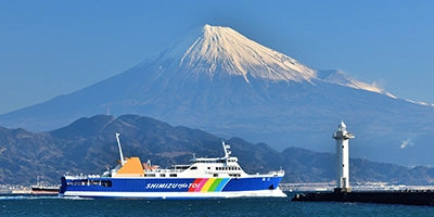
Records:
[[[405,165],[434,162],[434,107],[397,99],[342,71],[309,67],[229,27],[209,25],[122,74],[0,115],[0,125],[52,130],[107,111],[278,150],[330,152],[331,135],[344,120],[356,135],[352,156]]]

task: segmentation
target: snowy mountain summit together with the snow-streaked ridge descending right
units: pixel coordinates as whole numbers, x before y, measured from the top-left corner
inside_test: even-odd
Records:
[[[250,82],[251,78],[275,82],[310,82],[317,79],[395,98],[374,85],[349,77],[342,71],[318,71],[308,67],[283,53],[250,40],[232,28],[221,26],[197,27],[140,65],[161,65],[154,74],[155,79],[162,74],[166,74],[167,77],[179,76],[174,74],[181,71],[189,72],[186,77],[194,77],[194,80],[199,80],[197,77],[203,75],[213,80],[221,74],[242,76],[246,82]]]

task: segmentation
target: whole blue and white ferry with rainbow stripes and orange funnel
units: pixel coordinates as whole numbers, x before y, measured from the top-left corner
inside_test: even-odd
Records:
[[[116,133],[120,161],[102,175],[64,175],[61,196],[207,199],[235,196],[286,196],[279,188],[282,169],[248,175],[231,156],[230,145],[222,142],[225,156],[195,157],[188,165],[162,169],[139,157],[124,158],[119,133]]]

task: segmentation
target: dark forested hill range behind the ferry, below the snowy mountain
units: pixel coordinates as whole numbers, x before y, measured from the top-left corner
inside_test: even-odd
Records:
[[[221,156],[222,138],[199,129],[173,127],[153,118],[106,115],[80,118],[49,132],[0,128],[0,183],[56,183],[65,174],[100,174],[119,158],[115,132],[120,133],[125,156],[151,159],[162,167],[186,164],[196,156]],[[240,138],[226,141],[232,154],[250,174],[283,168],[283,182],[323,182],[334,180],[334,155],[301,148],[283,152],[268,144],[253,144]],[[350,159],[350,180],[387,181],[391,183],[426,184],[434,170],[408,168],[395,164]]]

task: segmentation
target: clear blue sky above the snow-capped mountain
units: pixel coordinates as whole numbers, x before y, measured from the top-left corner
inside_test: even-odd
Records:
[[[194,27],[434,103],[434,1],[0,1],[0,114],[85,88]]]

